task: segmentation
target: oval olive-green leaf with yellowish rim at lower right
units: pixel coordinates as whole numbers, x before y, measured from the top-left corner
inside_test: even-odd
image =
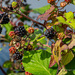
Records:
[[[61,63],[62,65],[67,65],[68,63],[71,62],[71,60],[74,58],[74,54],[72,51],[67,52],[65,55],[62,56],[61,58]]]

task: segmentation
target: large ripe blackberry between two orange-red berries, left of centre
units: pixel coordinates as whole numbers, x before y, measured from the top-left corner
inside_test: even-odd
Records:
[[[17,28],[15,28],[14,30],[15,35],[23,37],[24,35],[27,34],[27,31],[25,30],[24,26],[18,26]]]

